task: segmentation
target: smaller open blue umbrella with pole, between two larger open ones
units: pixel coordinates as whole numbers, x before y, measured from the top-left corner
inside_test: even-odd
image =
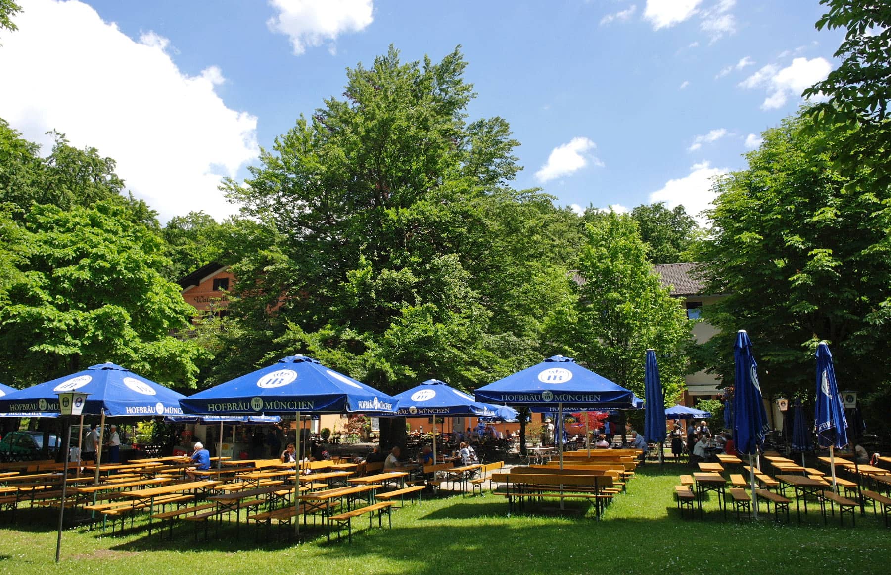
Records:
[[[433,460],[437,458],[437,417],[496,417],[497,408],[479,403],[472,395],[455,389],[439,379],[428,379],[393,396],[398,416],[433,417]]]

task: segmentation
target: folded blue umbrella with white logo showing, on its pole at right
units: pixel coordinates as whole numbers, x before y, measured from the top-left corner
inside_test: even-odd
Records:
[[[814,407],[813,425],[817,430],[820,447],[830,449],[830,469],[832,470],[832,490],[836,490],[835,449],[847,445],[847,420],[845,406],[838,393],[835,368],[829,344],[817,345],[817,402]]]

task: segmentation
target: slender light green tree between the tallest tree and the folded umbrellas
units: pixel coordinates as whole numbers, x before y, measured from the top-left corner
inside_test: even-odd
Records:
[[[577,270],[576,304],[561,318],[570,326],[567,352],[642,397],[644,358],[653,348],[672,397],[687,371],[691,321],[653,273],[634,219],[610,211],[589,224]]]

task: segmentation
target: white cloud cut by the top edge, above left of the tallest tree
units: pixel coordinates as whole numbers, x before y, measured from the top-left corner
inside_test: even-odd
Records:
[[[372,0],[269,0],[278,12],[266,21],[274,32],[290,38],[298,56],[329,42],[328,52],[337,53],[333,44],[343,33],[358,32],[372,23]]]

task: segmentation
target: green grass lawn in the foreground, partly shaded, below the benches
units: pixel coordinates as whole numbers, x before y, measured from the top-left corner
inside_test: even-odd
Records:
[[[628,492],[617,497],[602,521],[593,509],[557,505],[537,514],[507,515],[503,498],[424,501],[393,514],[393,529],[354,533],[352,545],[325,544],[324,536],[295,546],[286,540],[257,542],[251,526],[210,530],[210,541],[195,542],[192,525],[174,530],[174,540],[148,537],[140,528],[102,536],[86,528],[66,530],[62,563],[53,565],[55,522],[46,512],[22,512],[16,525],[0,523],[0,572],[42,573],[672,573],[723,574],[891,571],[891,529],[871,513],[857,516],[856,528],[830,518],[824,526],[814,504],[799,526],[795,511],[787,525],[765,518],[726,520],[715,496],[704,520],[681,519],[672,490],[686,466],[639,468]],[[762,507],[764,509],[764,507]],[[817,509],[817,511],[814,511]],[[385,518],[386,521],[386,518]],[[367,520],[354,520],[367,526]],[[375,521],[375,525],[377,522]],[[386,523],[385,523],[386,524]],[[129,522],[127,522],[129,527]],[[283,530],[286,529],[282,527]],[[203,538],[203,533],[200,536]]]

